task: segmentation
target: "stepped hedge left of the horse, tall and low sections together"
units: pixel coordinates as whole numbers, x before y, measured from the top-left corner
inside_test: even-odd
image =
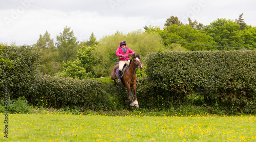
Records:
[[[4,98],[7,85],[11,100],[25,97],[33,106],[83,110],[123,108],[120,104],[125,101],[120,99],[125,98],[122,94],[127,94],[123,87],[110,87],[112,83],[103,84],[94,80],[40,76],[38,57],[40,52],[33,46],[0,44],[0,98]]]

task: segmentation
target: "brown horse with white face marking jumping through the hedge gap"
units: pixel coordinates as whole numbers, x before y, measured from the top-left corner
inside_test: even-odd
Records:
[[[114,84],[116,84],[116,79],[118,79],[118,77],[115,74],[118,68],[119,68],[119,63],[116,63],[111,70],[111,79],[114,80]],[[121,78],[121,84],[125,86],[128,91],[128,95],[130,97],[130,101],[128,103],[130,104],[130,106],[134,107],[135,105],[136,108],[139,108],[139,103],[137,101],[137,96],[136,96],[136,79],[137,79],[136,73],[135,73],[136,68],[143,69],[139,54],[137,54],[136,56],[135,54],[133,54],[132,59],[130,60],[129,66],[127,66],[126,68],[123,67],[122,69],[123,77]],[[133,88],[133,96],[132,96],[131,86]]]

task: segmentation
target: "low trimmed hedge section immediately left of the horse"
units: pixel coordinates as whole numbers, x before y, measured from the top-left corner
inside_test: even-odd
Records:
[[[70,109],[113,109],[113,101],[104,84],[94,80],[36,77],[28,101],[35,106]]]

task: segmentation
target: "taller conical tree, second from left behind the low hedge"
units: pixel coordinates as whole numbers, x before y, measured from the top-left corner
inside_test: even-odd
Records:
[[[70,27],[65,27],[63,33],[56,36],[57,49],[59,50],[58,61],[74,61],[78,50],[78,41]]]

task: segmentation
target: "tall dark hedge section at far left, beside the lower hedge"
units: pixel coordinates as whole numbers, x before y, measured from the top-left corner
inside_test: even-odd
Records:
[[[12,94],[11,99],[26,96],[37,74],[39,51],[32,46],[6,46],[0,44],[0,98],[4,84]]]

